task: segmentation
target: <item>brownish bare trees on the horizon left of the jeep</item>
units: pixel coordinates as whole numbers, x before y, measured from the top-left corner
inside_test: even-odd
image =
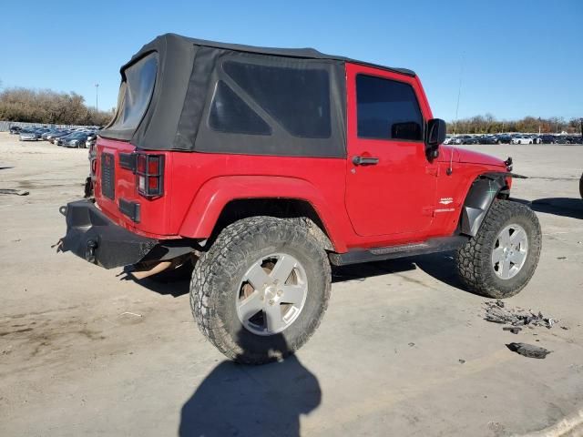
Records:
[[[51,125],[104,126],[114,115],[87,107],[77,93],[7,88],[0,92],[0,120]]]

